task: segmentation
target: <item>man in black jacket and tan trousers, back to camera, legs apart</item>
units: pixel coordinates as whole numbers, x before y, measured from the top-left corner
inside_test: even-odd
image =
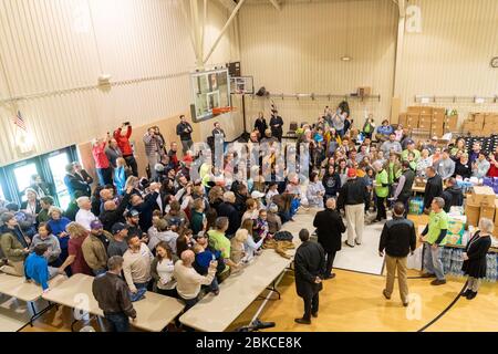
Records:
[[[394,278],[397,269],[397,281],[403,305],[408,305],[408,283],[406,278],[407,256],[415,251],[417,239],[415,226],[412,220],[404,218],[405,206],[396,202],[393,209],[393,219],[388,220],[381,233],[378,256],[384,257],[387,271],[386,285],[382,292],[388,300],[394,289]]]

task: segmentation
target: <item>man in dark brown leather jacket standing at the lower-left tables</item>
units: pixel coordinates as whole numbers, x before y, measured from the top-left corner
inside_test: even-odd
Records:
[[[114,256],[107,260],[108,271],[95,277],[92,283],[92,293],[111,324],[108,332],[128,332],[129,320],[136,320],[136,311],[129,299],[126,282],[121,279],[123,257]]]

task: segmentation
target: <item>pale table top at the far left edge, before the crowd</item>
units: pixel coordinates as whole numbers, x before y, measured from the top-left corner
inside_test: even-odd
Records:
[[[49,281],[49,287],[56,287],[56,284],[61,283],[64,279],[63,275],[58,275]],[[33,282],[27,282],[24,277],[0,273],[0,293],[25,302],[32,302],[37,301],[43,294],[43,290],[41,285]]]

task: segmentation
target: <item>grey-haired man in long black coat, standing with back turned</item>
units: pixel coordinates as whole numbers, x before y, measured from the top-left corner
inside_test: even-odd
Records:
[[[332,273],[335,252],[341,250],[342,232],[345,232],[345,226],[341,215],[335,209],[335,199],[326,199],[325,210],[317,212],[313,220],[317,228],[318,242],[323,247],[326,253],[325,278],[335,277]]]

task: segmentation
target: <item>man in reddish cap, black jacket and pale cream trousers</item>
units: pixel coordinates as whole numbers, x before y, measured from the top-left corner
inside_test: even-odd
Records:
[[[362,243],[363,225],[365,223],[365,200],[369,197],[363,178],[356,178],[356,170],[347,170],[347,181],[342,186],[338,197],[338,209],[345,210],[349,247]]]

